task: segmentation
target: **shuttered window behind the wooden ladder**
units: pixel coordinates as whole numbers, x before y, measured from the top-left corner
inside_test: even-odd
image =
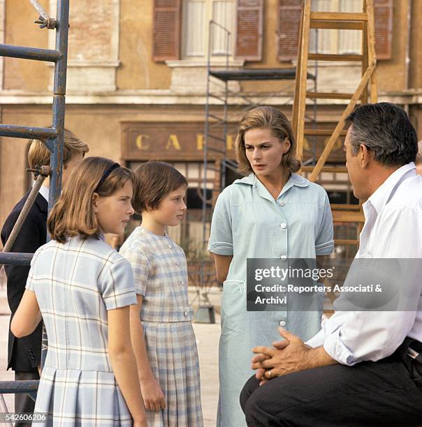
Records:
[[[279,0],[278,57],[280,61],[296,59],[298,54],[302,0]],[[361,11],[362,0],[314,0],[315,10],[332,12]],[[393,31],[393,0],[374,0],[375,51],[377,59],[391,58],[391,36]],[[352,30],[311,31],[310,50],[320,53],[361,52],[361,35]]]

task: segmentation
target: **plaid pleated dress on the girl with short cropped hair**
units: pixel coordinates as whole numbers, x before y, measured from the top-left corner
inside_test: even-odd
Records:
[[[198,351],[187,297],[187,264],[170,237],[137,227],[120,249],[132,264],[152,372],[166,409],[147,411],[148,427],[202,427]]]

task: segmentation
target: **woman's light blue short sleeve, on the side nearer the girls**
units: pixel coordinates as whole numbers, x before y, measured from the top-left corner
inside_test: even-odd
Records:
[[[221,192],[215,204],[208,250],[217,255],[233,255],[230,188]]]

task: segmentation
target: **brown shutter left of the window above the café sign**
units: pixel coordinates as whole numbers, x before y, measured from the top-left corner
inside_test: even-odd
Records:
[[[154,0],[154,61],[180,59],[181,0]]]

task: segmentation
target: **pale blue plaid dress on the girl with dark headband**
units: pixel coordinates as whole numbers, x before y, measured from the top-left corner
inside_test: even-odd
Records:
[[[103,240],[52,240],[36,251],[27,289],[48,336],[35,406],[50,413],[43,425],[131,426],[107,351],[107,310],[136,304],[129,262]]]

